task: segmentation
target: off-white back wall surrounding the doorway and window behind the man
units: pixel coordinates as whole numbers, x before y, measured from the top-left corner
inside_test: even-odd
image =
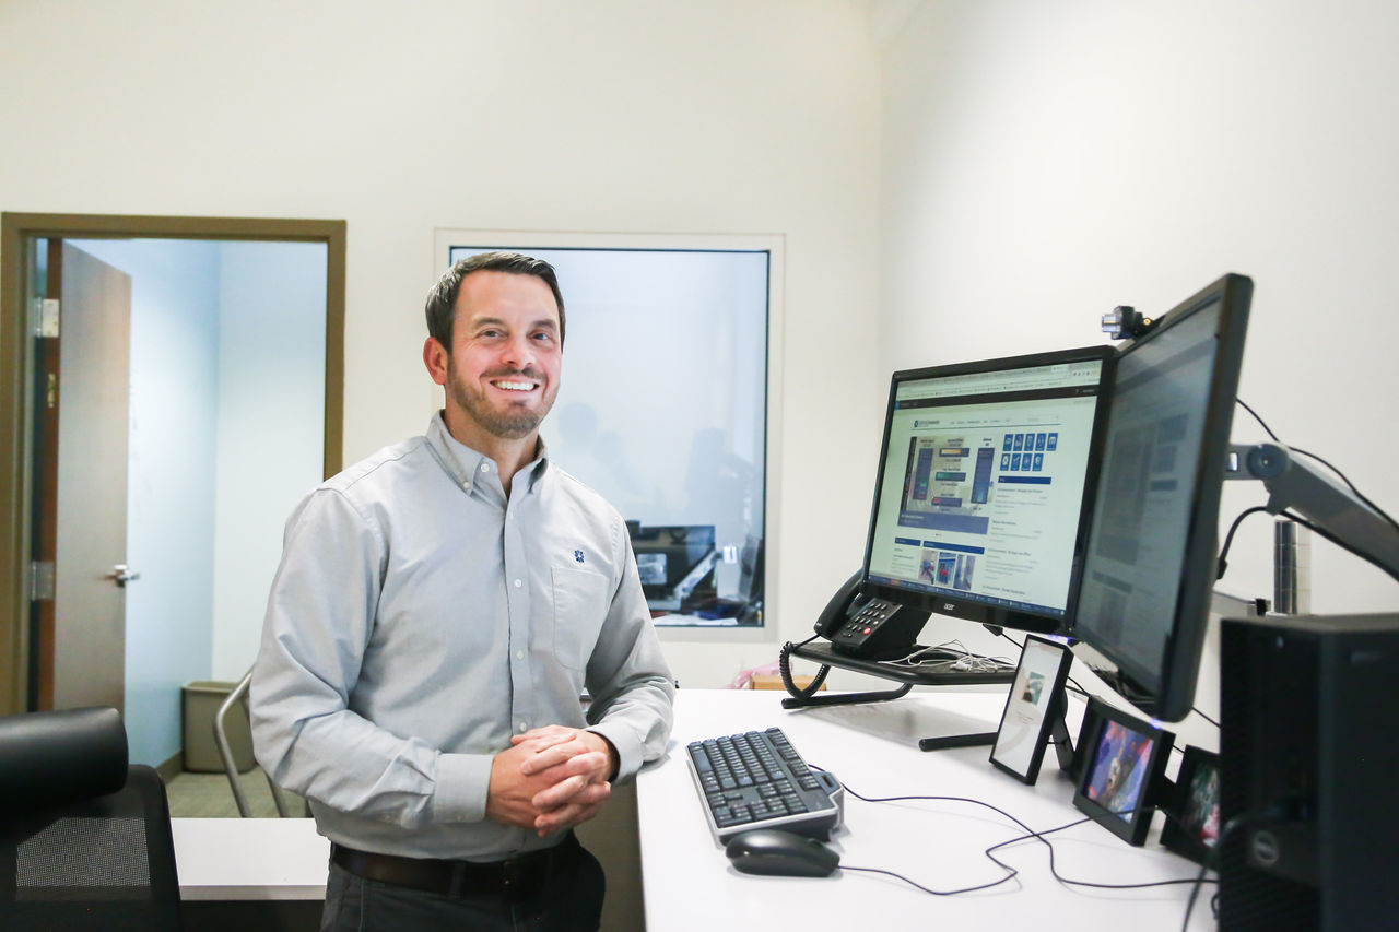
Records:
[[[4,147],[0,206],[347,220],[347,462],[424,427],[434,228],[783,235],[781,630],[667,640],[718,684],[860,560],[879,78],[848,0],[8,0],[0,125],[34,144]]]

